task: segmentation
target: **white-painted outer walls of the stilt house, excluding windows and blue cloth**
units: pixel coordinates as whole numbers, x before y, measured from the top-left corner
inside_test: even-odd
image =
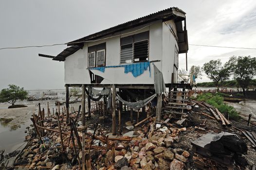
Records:
[[[146,25],[149,25],[145,27]],[[80,49],[68,56],[65,60],[65,84],[91,84],[88,66],[88,46],[93,46],[106,42],[106,66],[120,65],[120,38],[132,34],[149,31],[149,61],[161,60],[155,62],[159,70],[163,72],[165,83],[171,83],[171,73],[174,64],[175,38],[168,30],[168,27],[161,20],[139,26],[125,32],[116,33],[118,35],[105,40],[96,42],[86,42],[83,49]],[[145,28],[144,28],[145,27]],[[141,29],[143,28],[143,29]],[[129,33],[138,30],[134,33]],[[125,34],[125,35],[120,35]],[[114,36],[111,35],[111,36]],[[153,64],[150,64],[151,76],[148,69],[140,76],[133,77],[132,73],[125,73],[121,68],[105,68],[105,72],[91,70],[94,74],[105,78],[101,84],[154,84]]]

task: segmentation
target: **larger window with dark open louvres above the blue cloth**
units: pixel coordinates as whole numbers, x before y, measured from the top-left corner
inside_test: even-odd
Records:
[[[148,61],[149,32],[121,38],[120,63]]]

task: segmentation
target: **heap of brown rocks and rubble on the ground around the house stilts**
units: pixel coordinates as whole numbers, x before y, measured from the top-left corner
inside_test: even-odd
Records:
[[[193,110],[190,111],[192,112]],[[186,170],[210,169],[212,165],[218,167],[221,160],[214,160],[214,156],[209,159],[206,154],[208,151],[204,151],[205,154],[200,153],[195,149],[196,144],[193,141],[202,141],[200,137],[209,132],[218,134],[229,129],[221,129],[222,124],[211,116],[205,116],[205,111],[204,114],[193,114],[195,115],[165,112],[162,115],[166,118],[165,121],[157,122],[155,117],[150,117],[137,126],[131,121],[126,121],[122,135],[119,136],[110,133],[106,128],[107,122],[82,126],[78,112],[70,115],[70,124],[66,124],[65,114],[59,115],[59,118],[58,115],[44,118],[34,115],[34,129],[30,129],[30,137],[26,137],[28,144],[19,153],[14,165],[78,170],[83,163],[84,148],[85,166],[90,165],[91,169],[95,170]],[[182,124],[175,124],[178,119],[184,118],[186,120]],[[225,128],[229,128],[228,125]],[[253,136],[254,133],[250,135]],[[82,142],[83,137],[85,144]],[[218,143],[215,144],[214,146],[219,146]],[[249,147],[248,152],[251,151],[252,148]],[[223,165],[222,161],[222,168],[234,168],[234,155],[230,155],[231,157],[225,157],[225,160],[230,158],[227,165]],[[242,164],[244,155],[238,156]],[[244,162],[239,165],[240,168],[248,167],[247,161]]]

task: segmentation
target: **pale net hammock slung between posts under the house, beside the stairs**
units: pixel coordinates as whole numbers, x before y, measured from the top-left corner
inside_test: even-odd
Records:
[[[146,98],[145,100],[138,101],[138,102],[127,102],[127,101],[123,100],[118,94],[116,94],[116,97],[120,102],[125,103],[128,107],[138,110],[138,109],[146,106],[147,103],[151,102],[156,97],[156,95],[157,94],[154,94],[154,95]]]

